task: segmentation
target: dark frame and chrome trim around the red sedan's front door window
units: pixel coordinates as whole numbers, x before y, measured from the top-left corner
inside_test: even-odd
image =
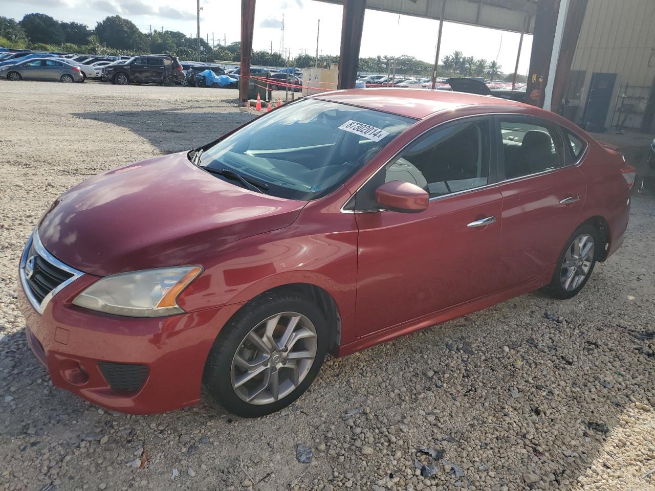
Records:
[[[444,198],[451,198],[453,196],[460,196],[461,194],[466,194],[468,192],[474,192],[474,191],[479,191],[481,189],[486,189],[488,187],[493,187],[497,186],[499,181],[498,179],[500,178],[500,173],[498,173],[498,138],[495,137],[495,120],[494,120],[494,115],[493,114],[477,114],[477,115],[468,115],[468,116],[461,116],[455,119],[447,120],[444,121],[440,124],[437,124],[436,126],[432,126],[432,128],[428,128],[421,134],[417,135],[414,139],[409,141],[406,145],[403,145],[402,149],[400,149],[398,152],[396,152],[391,158],[386,160],[384,164],[379,166],[374,172],[371,172],[371,175],[369,175],[368,179],[362,183],[360,187],[358,187],[357,191],[353,192],[350,198],[346,200],[346,202],[341,206],[341,213],[377,213],[379,211],[389,211],[388,209],[384,208],[373,208],[373,209],[354,209],[354,204],[355,204],[355,196],[362,188],[367,185],[367,183],[373,179],[373,177],[378,173],[384,170],[388,164],[391,162],[395,162],[400,156],[402,156],[403,152],[405,152],[411,145],[414,143],[417,143],[420,139],[423,137],[428,137],[430,133],[432,132],[437,132],[441,131],[444,129],[449,128],[449,126],[454,126],[455,124],[459,124],[464,120],[487,120],[488,127],[489,127],[489,180],[487,181],[487,184],[483,186],[478,186],[478,187],[472,187],[471,189],[462,189],[462,191],[456,191],[456,192],[451,192],[450,194],[443,194],[443,196],[434,196],[434,198],[428,198],[428,203],[432,203],[437,200],[442,200]],[[411,128],[411,126],[410,126]],[[407,128],[409,130],[409,128]],[[405,130],[405,131],[407,131]],[[400,136],[400,135],[399,135]],[[352,205],[352,206],[351,206]],[[350,207],[351,209],[348,209]]]

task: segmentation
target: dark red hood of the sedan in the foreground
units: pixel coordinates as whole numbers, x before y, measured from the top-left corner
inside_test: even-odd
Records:
[[[290,225],[305,204],[248,191],[177,153],[73,187],[45,213],[39,238],[60,261],[99,276],[202,264],[225,244]]]

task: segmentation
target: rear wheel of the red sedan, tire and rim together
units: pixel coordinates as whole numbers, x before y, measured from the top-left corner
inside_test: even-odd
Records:
[[[584,253],[589,242],[592,242],[591,250],[580,258],[580,252]],[[582,245],[580,245],[582,244]],[[589,281],[598,258],[603,250],[603,240],[597,228],[592,225],[582,225],[571,234],[567,245],[557,258],[555,272],[550,284],[546,287],[546,293],[555,299],[571,299],[580,293],[584,285]],[[571,266],[567,266],[571,264]]]

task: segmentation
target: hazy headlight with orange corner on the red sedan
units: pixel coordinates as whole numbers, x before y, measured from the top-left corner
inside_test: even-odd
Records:
[[[200,266],[179,266],[106,276],[77,295],[73,304],[119,316],[180,314],[184,310],[176,302],[178,295],[200,272]]]

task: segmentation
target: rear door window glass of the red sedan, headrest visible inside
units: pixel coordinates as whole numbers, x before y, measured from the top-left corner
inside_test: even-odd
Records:
[[[565,165],[564,149],[554,125],[535,118],[500,118],[505,178],[546,172]]]

